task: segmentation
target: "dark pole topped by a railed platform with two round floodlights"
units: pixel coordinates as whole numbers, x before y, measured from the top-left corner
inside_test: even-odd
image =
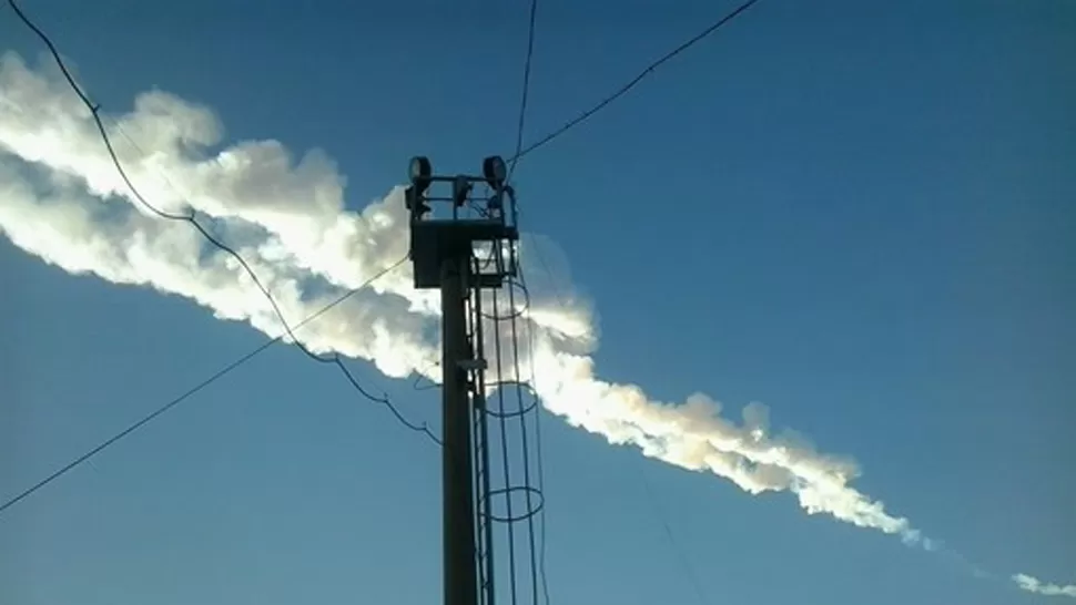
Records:
[[[479,589],[491,595],[491,577],[479,586],[479,576],[491,576],[491,542],[488,540],[488,510],[486,523],[479,519],[476,493],[488,506],[488,481],[485,490],[479,481],[476,491],[476,469],[473,461],[485,465],[485,452],[477,452],[473,444],[471,428],[476,424],[476,409],[481,402],[473,401],[471,393],[480,399],[476,377],[486,368],[480,339],[475,341],[468,334],[468,302],[484,288],[499,288],[515,275],[514,257],[504,262],[500,254],[506,243],[519,238],[516,228],[515,194],[505,182],[505,161],[491,156],[483,161],[481,176],[435,176],[429,160],[414,157],[410,162],[410,186],[406,191],[406,205],[410,211],[410,259],[415,269],[415,287],[441,293],[441,371],[444,423],[444,458],[441,481],[444,491],[444,583],[445,605],[477,605]],[[437,197],[430,187],[437,183],[450,183],[451,195]],[[475,185],[488,186],[489,195],[474,196]],[[507,204],[506,204],[507,201]],[[451,218],[437,218],[430,203],[446,202],[451,205]],[[506,205],[508,213],[506,213]],[[476,217],[469,217],[474,209]],[[463,211],[464,216],[460,216]],[[475,244],[494,246],[493,263],[476,262]],[[489,269],[491,266],[491,269]],[[477,318],[480,314],[475,314]],[[474,332],[476,330],[471,330]],[[480,330],[477,330],[480,334]],[[479,472],[483,472],[481,470]],[[484,494],[484,492],[487,492]],[[487,566],[480,567],[476,544],[484,544]],[[483,573],[485,571],[485,573]],[[489,597],[491,601],[491,597]],[[485,599],[484,599],[485,601]]]

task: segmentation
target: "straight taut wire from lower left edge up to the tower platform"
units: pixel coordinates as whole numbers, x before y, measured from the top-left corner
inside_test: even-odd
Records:
[[[364,281],[361,286],[358,286],[358,287],[356,287],[354,289],[348,290],[343,296],[336,298],[335,300],[333,300],[332,302],[329,302],[325,307],[322,307],[321,309],[318,309],[316,312],[314,312],[309,317],[307,317],[307,318],[303,319],[302,321],[300,321],[298,324],[296,324],[295,325],[295,329],[297,330],[297,329],[302,328],[303,326],[305,326],[306,324],[309,324],[311,321],[317,319],[322,315],[328,312],[331,309],[333,309],[336,306],[338,306],[339,304],[344,302],[345,300],[347,300],[348,298],[351,298],[352,296],[354,296],[356,293],[358,293],[363,288],[369,286],[375,280],[377,280],[378,278],[380,278],[382,276],[384,276],[385,274],[392,271],[396,267],[398,267],[402,264],[404,264],[405,260],[407,260],[407,257],[404,257],[404,258],[399,259],[397,263],[393,264],[392,266],[386,267],[385,269],[382,269],[380,271],[376,273],[373,277],[370,277],[369,279],[367,279],[366,281]],[[13,506],[13,505],[18,504],[19,502],[21,502],[22,500],[29,498],[31,494],[33,494],[34,492],[37,492],[41,488],[44,488],[49,483],[52,483],[57,479],[60,479],[62,475],[67,474],[71,470],[73,470],[75,466],[82,464],[83,462],[90,460],[94,455],[101,453],[102,451],[104,451],[110,445],[114,444],[115,442],[120,441],[121,439],[128,437],[129,434],[138,431],[142,427],[149,424],[150,422],[152,422],[154,419],[156,419],[158,417],[160,417],[164,412],[166,412],[166,411],[171,410],[172,408],[179,406],[180,403],[182,403],[183,401],[185,401],[186,399],[189,399],[193,394],[197,393],[202,389],[209,387],[213,382],[216,382],[217,380],[220,380],[221,378],[223,378],[225,375],[227,375],[232,370],[238,368],[243,363],[246,363],[247,361],[250,361],[251,359],[253,359],[255,356],[257,356],[258,353],[261,353],[265,349],[267,349],[267,348],[272,347],[273,345],[275,345],[276,342],[283,340],[283,338],[284,338],[284,335],[280,335],[280,336],[277,336],[275,338],[271,338],[271,339],[266,340],[265,342],[263,342],[262,345],[260,345],[256,349],[254,349],[251,352],[244,355],[243,357],[236,359],[235,361],[232,361],[227,366],[224,366],[223,368],[221,368],[220,370],[217,370],[215,373],[213,373],[212,376],[210,376],[205,380],[199,382],[194,387],[191,387],[185,392],[183,392],[182,394],[180,394],[175,399],[169,401],[164,406],[161,406],[160,408],[158,408],[153,412],[146,414],[145,417],[143,417],[138,422],[134,422],[130,427],[123,429],[122,431],[115,433],[114,435],[110,437],[109,439],[102,441],[95,448],[89,450],[84,454],[75,458],[74,460],[72,460],[68,464],[61,466],[57,471],[52,472],[52,474],[45,476],[41,481],[34,483],[32,486],[30,486],[27,490],[24,490],[23,492],[21,492],[19,495],[17,495],[17,496],[8,500],[7,502],[4,502],[2,505],[0,505],[0,513],[3,513],[4,511],[7,511],[8,509],[10,509],[11,506]],[[393,410],[393,413],[396,414],[396,418],[400,419],[400,421],[404,422],[405,424],[412,427],[412,423],[409,423],[406,420],[403,420],[402,419],[402,417],[399,416],[399,412],[396,411],[396,409],[392,406],[392,403],[388,403],[388,402],[386,402],[386,403],[388,404],[389,409]],[[415,429],[415,430],[418,430],[418,429]],[[427,433],[428,433],[428,431],[427,431]],[[436,438],[435,438],[435,440],[436,440]]]

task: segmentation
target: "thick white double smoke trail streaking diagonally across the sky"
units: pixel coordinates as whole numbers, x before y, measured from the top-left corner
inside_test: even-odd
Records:
[[[349,212],[344,177],[322,152],[295,162],[276,141],[220,147],[222,129],[211,111],[163,92],[139,95],[133,111],[105,124],[145,198],[165,212],[192,208],[209,217],[285,317],[311,315],[406,253],[402,189]],[[280,332],[268,302],[232,258],[207,249],[189,225],[139,206],[89,111],[55,71],[31,70],[13,53],[0,57],[0,232],[65,271],[152,287],[186,297],[221,319]],[[526,247],[521,256],[526,264]],[[430,336],[437,334],[436,293],[416,291],[410,283],[409,269],[386,276],[331,320],[306,327],[304,342],[315,351],[367,359],[392,377],[414,372],[436,380],[439,343]],[[735,422],[702,393],[671,404],[651,400],[635,384],[599,379],[590,357],[598,337],[588,302],[561,306],[544,299],[540,288],[534,294],[524,322],[534,335],[528,355],[540,377],[537,389],[546,408],[571,425],[722,476],[751,494],[791,492],[809,514],[829,514],[926,550],[937,546],[851,485],[860,474],[853,460],[771,432],[761,403],[749,404]],[[1029,576],[1014,582],[1029,592],[1074,596],[1068,587]]]

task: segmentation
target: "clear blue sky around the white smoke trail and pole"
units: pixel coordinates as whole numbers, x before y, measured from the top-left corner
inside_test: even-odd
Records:
[[[528,137],[731,8],[544,0]],[[106,111],[160,88],[216,111],[229,143],[324,148],[351,209],[410,155],[468,170],[514,141],[525,2],[27,10]],[[976,564],[1072,582],[1074,33],[1059,0],[764,0],[529,156],[524,227],[593,299],[599,375],[662,400],[704,391],[731,416],[763,401]],[[0,41],[43,50],[9,9]],[[0,500],[262,341],[7,238],[0,276]],[[354,367],[436,419],[433,391]],[[707,603],[1043,598],[788,493],[752,496],[552,416],[544,430],[555,604],[698,603],[689,574]],[[0,596],[428,603],[438,481],[435,448],[273,348],[0,516]]]

